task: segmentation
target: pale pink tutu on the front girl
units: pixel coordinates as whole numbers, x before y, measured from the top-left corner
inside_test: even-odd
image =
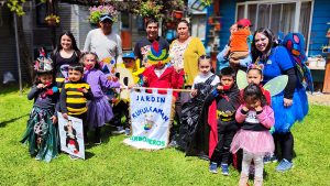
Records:
[[[241,129],[233,138],[230,151],[240,149],[253,154],[270,155],[274,153],[274,140],[270,131],[251,131]]]

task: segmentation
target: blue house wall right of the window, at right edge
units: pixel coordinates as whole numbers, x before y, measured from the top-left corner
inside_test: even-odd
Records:
[[[328,29],[330,29],[330,1],[315,0],[312,11],[312,22],[309,41],[309,55],[318,55],[321,53],[321,47],[329,43],[326,37]]]

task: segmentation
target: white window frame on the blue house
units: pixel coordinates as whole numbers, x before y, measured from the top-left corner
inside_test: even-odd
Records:
[[[244,7],[244,18],[248,18],[248,6],[250,4],[255,4],[256,6],[256,12],[258,11],[258,6],[257,4],[263,4],[263,3],[270,3],[270,4],[284,4],[284,3],[295,3],[295,22],[294,22],[294,31],[293,32],[299,32],[299,19],[300,19],[300,9],[301,9],[301,3],[302,2],[310,2],[310,18],[309,18],[309,28],[308,28],[308,33],[306,37],[306,54],[308,55],[309,51],[309,42],[310,42],[310,32],[311,32],[311,22],[312,22],[312,14],[314,14],[314,0],[278,0],[278,1],[272,1],[272,0],[260,0],[260,1],[245,1],[245,2],[238,2],[237,3],[237,10],[235,10],[235,20],[238,20],[239,15],[239,6]],[[272,9],[271,9],[272,11]],[[280,14],[282,15],[282,14]],[[257,15],[255,18],[255,22],[257,22]],[[257,26],[256,23],[252,23]],[[272,25],[271,17],[270,17],[270,24]],[[257,29],[255,26],[255,30]]]

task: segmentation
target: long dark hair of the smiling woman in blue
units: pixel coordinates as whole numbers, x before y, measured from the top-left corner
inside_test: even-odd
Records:
[[[255,47],[255,35],[257,33],[264,34],[270,41],[270,43],[266,47],[266,53],[265,54],[262,54]],[[252,62],[255,62],[258,57],[261,57],[261,59],[263,59],[263,61],[266,61],[271,55],[272,48],[274,46],[274,42],[275,42],[275,37],[274,37],[273,32],[270,29],[260,28],[258,30],[256,30],[253,34],[253,40],[252,40],[252,44],[251,44]]]

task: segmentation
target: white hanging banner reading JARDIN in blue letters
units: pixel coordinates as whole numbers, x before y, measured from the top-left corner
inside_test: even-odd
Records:
[[[152,90],[148,90],[152,91]],[[169,117],[172,109],[172,90],[160,95],[131,90],[130,111],[132,136],[124,143],[138,149],[160,150],[167,146],[169,135]]]

